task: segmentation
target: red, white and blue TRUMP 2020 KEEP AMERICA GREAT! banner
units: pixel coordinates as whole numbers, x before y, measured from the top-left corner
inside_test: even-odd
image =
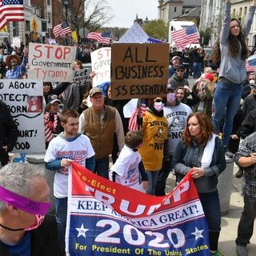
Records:
[[[190,174],[164,197],[110,182],[72,162],[67,255],[209,255],[208,227]]]

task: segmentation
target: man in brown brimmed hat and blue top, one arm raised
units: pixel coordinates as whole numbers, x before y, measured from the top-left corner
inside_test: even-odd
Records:
[[[26,74],[26,62],[28,58],[28,49],[23,50],[23,59],[17,55],[9,55],[6,58],[6,65],[8,66],[9,70],[6,71],[6,78],[7,79],[18,79],[21,78],[22,75]]]

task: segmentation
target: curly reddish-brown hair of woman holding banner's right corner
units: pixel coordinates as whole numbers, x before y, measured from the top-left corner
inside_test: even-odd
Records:
[[[202,112],[191,113],[189,117],[186,119],[186,127],[182,133],[182,140],[186,146],[192,145],[193,137],[190,134],[188,122],[190,118],[193,118],[193,117],[198,119],[198,123],[201,127],[200,137],[197,139],[198,145],[206,146],[206,143],[208,142],[212,134],[213,133],[216,134],[216,132],[214,130],[213,123],[210,121],[210,118],[208,118],[208,116]]]

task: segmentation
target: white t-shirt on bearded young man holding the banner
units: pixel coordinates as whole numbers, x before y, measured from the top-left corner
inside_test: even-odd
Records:
[[[90,139],[86,135],[81,134],[72,142],[67,141],[61,136],[57,136],[50,141],[46,150],[45,162],[67,158],[85,167],[86,158],[91,158],[94,154]],[[54,176],[54,196],[56,198],[66,198],[68,194],[67,190],[68,168],[56,170]]]

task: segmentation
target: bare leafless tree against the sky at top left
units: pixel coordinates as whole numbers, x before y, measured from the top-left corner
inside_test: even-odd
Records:
[[[86,28],[89,31],[98,30],[102,25],[109,22],[113,17],[110,6],[105,0],[74,0],[75,4],[70,4],[68,12],[74,24],[74,29],[80,37],[78,31]]]

